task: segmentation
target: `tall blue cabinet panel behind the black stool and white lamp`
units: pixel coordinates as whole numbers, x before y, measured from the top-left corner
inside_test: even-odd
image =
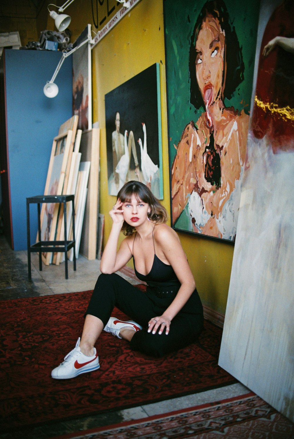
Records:
[[[44,85],[53,76],[60,52],[5,50],[7,142],[13,243],[26,250],[26,197],[44,193],[53,138],[72,116],[72,57],[66,58],[55,83],[59,93],[48,98]],[[31,207],[31,241],[37,233],[36,207]]]

